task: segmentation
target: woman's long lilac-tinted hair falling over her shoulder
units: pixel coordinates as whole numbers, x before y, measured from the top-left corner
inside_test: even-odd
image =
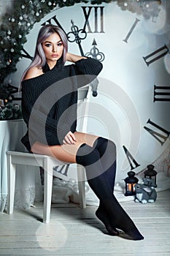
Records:
[[[26,71],[23,73],[23,76],[21,78],[21,81],[23,80],[24,76],[26,75],[26,72],[31,67],[44,67],[46,63],[46,57],[44,50],[42,48],[42,42],[45,42],[47,37],[50,37],[50,35],[57,33],[59,37],[61,37],[61,41],[63,42],[63,64],[66,62],[66,53],[68,50],[68,41],[65,32],[58,26],[48,24],[45,26],[42,26],[42,28],[39,30],[39,34],[36,40],[36,50],[34,54],[33,61],[28,66]]]

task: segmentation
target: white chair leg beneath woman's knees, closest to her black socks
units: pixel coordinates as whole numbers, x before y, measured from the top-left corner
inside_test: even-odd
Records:
[[[86,208],[85,169],[81,165],[77,165],[77,177],[78,177],[78,187],[79,187],[80,208]]]

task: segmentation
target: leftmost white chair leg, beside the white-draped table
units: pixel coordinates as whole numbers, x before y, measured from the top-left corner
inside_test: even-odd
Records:
[[[7,155],[7,177],[8,177],[7,214],[12,214],[13,208],[14,208],[15,173],[16,173],[16,164],[12,164],[12,156]]]

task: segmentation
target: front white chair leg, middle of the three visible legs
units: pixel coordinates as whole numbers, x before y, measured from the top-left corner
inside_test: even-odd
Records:
[[[44,159],[45,180],[44,180],[44,211],[43,211],[43,222],[50,222],[50,209],[51,209],[51,197],[53,187],[53,165],[50,159]]]

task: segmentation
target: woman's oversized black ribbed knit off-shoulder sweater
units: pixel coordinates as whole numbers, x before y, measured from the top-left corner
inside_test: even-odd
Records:
[[[22,112],[27,125],[21,139],[28,151],[36,142],[61,145],[69,131],[77,126],[77,89],[101,72],[95,59],[81,59],[65,65],[58,61],[53,69],[22,82]]]

